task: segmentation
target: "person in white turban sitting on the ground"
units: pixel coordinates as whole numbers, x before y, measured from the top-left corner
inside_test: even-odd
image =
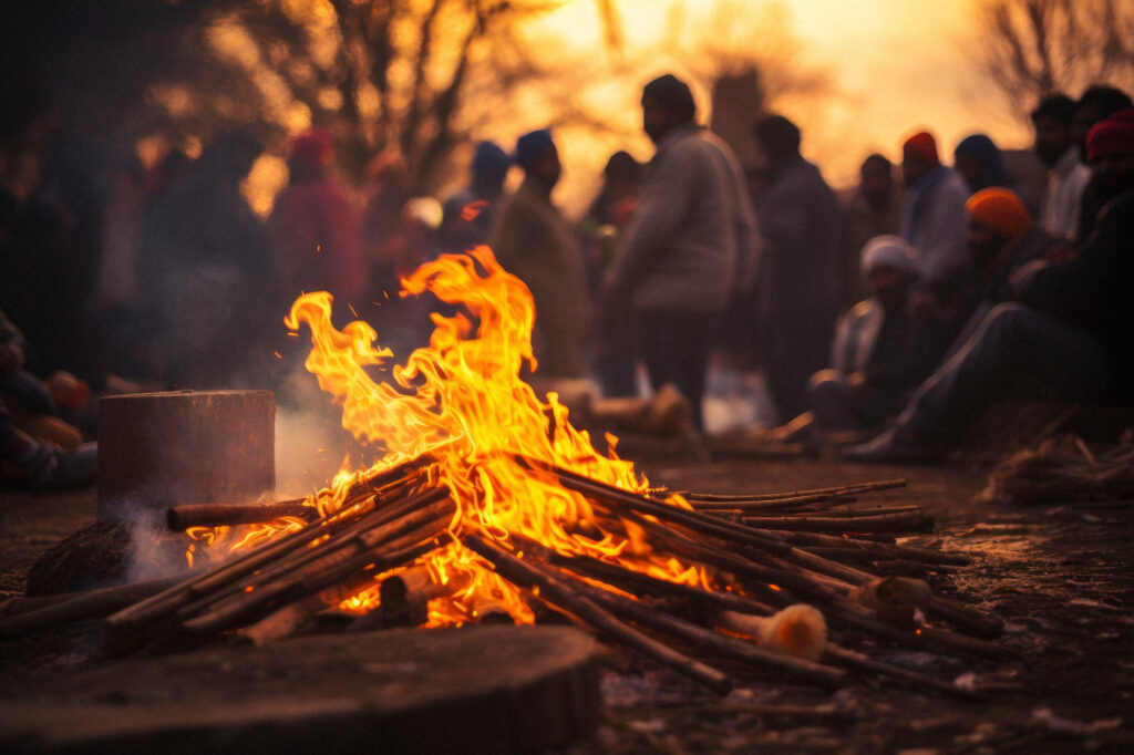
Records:
[[[861,261],[871,297],[839,317],[831,367],[811,376],[811,408],[786,425],[786,440],[799,439],[804,429],[813,440],[877,432],[949,345],[946,322],[907,313],[917,280],[917,254],[909,244],[898,236],[878,236],[863,247]]]

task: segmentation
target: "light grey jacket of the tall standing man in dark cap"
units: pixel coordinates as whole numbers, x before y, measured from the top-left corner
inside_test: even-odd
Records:
[[[731,150],[695,125],[662,137],[607,273],[640,312],[723,312],[755,278],[760,237]]]

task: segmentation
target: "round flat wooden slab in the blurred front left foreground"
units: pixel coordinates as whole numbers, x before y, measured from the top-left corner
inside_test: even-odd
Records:
[[[590,736],[596,644],[465,627],[218,646],[5,675],[3,753],[526,753]]]

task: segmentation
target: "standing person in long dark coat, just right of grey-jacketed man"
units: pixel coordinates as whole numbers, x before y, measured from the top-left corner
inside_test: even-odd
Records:
[[[782,116],[755,126],[768,162],[756,203],[764,238],[759,283],[768,387],[781,417],[806,409],[807,379],[827,365],[841,304],[839,204],[799,154],[799,129]]]

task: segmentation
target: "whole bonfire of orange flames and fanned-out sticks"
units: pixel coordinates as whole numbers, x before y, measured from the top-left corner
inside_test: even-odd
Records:
[[[306,366],[342,406],[344,426],[384,448],[384,458],[307,499],[310,517],[248,528],[226,562],[111,616],[109,651],[229,633],[266,642],[312,623],[328,603],[373,610],[399,575],[405,584],[384,593],[407,600],[406,586],[425,574],[428,626],[501,612],[531,623],[550,609],[717,690],[731,686],[737,668],[822,685],[854,668],[959,692],[844,646],[863,633],[914,648],[998,652],[936,626],[984,637],[999,630],[945,599],[920,595],[926,620],[911,609],[900,626],[858,601],[885,592],[869,589],[874,560],[957,563],[848,536],[932,527],[916,507],[847,506],[900,481],[760,497],[657,490],[613,450],[599,453],[555,393],[543,401],[521,379],[524,364],[536,366],[531,294],[486,247],[423,265],[404,289],[429,290],[467,314],[434,314],[429,347],[393,366],[395,384],[367,372],[386,368],[392,354],[375,348],[363,322],[336,330],[328,294],[304,295],[287,320],[293,330],[310,326]],[[608,441],[613,449],[616,439]],[[281,506],[294,503],[265,509],[265,518]],[[191,532],[213,557],[234,540],[227,527]],[[847,553],[856,566],[844,562]],[[784,611],[801,603],[809,606]],[[773,614],[775,627],[765,619]],[[805,623],[785,623],[792,614]]]

